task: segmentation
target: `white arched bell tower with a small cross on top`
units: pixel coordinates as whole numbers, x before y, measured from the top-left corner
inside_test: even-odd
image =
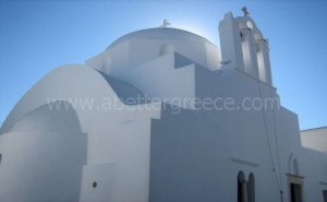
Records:
[[[243,8],[244,16],[227,13],[219,23],[222,63],[272,85],[268,40]]]

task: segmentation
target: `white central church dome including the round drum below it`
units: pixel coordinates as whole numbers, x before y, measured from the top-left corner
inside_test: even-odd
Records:
[[[157,27],[132,32],[114,40],[102,55],[102,61],[110,58],[110,63],[102,62],[98,70],[120,76],[169,55],[181,55],[192,61],[186,63],[196,63],[210,70],[217,70],[220,66],[220,51],[208,39],[179,28]]]

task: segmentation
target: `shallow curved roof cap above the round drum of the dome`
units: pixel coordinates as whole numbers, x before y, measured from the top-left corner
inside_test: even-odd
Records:
[[[183,40],[189,39],[194,41],[204,40],[216,47],[216,45],[210,40],[189,31],[172,28],[172,27],[156,27],[156,28],[145,28],[141,31],[135,31],[126,35],[123,35],[117,40],[114,40],[111,45],[109,45],[108,48],[106,48],[106,50],[129,39],[183,39]]]

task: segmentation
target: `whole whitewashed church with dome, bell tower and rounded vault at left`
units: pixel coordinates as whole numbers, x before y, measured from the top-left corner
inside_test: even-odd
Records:
[[[0,129],[1,202],[326,202],[327,128],[279,104],[255,22],[136,31],[52,70]]]

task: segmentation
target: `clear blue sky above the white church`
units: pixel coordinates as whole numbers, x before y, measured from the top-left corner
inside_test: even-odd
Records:
[[[0,122],[40,78],[83,63],[133,31],[173,27],[219,46],[223,14],[246,5],[270,43],[274,84],[300,128],[327,126],[327,2],[324,0],[0,0]]]

